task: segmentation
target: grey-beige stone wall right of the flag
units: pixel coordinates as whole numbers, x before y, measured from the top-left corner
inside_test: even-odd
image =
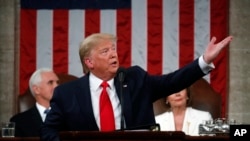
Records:
[[[229,118],[250,123],[250,1],[230,0]]]

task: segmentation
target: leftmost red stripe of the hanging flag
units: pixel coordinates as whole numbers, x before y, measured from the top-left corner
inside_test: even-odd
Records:
[[[19,90],[23,93],[36,69],[36,10],[21,10]],[[31,28],[32,27],[32,28]]]

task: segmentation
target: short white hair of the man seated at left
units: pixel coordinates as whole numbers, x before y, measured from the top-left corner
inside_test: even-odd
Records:
[[[40,84],[40,82],[42,81],[42,73],[44,72],[53,72],[53,70],[50,68],[40,68],[40,69],[37,69],[35,72],[33,72],[33,74],[30,77],[29,88],[33,96],[35,96],[35,93],[32,89],[32,86]]]

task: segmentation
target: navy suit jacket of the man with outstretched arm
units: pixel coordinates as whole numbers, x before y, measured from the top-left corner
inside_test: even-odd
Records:
[[[155,123],[153,102],[178,92],[204,76],[198,59],[181,70],[167,75],[149,75],[138,66],[126,69],[123,110],[126,128]],[[120,83],[114,78],[121,100]],[[41,139],[55,140],[57,130],[99,131],[93,114],[89,74],[55,88],[51,111],[42,126]]]

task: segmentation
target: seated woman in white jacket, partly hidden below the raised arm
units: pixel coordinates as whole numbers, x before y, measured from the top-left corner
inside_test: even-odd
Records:
[[[199,124],[204,120],[212,120],[209,112],[189,107],[189,97],[187,88],[166,98],[169,111],[155,117],[161,131],[183,131],[186,135],[198,136]]]

